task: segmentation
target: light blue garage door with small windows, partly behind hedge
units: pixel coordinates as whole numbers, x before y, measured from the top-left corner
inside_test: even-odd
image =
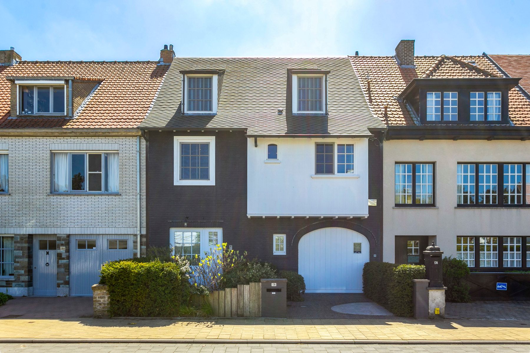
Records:
[[[70,296],[92,296],[101,265],[133,257],[133,236],[70,236]]]

